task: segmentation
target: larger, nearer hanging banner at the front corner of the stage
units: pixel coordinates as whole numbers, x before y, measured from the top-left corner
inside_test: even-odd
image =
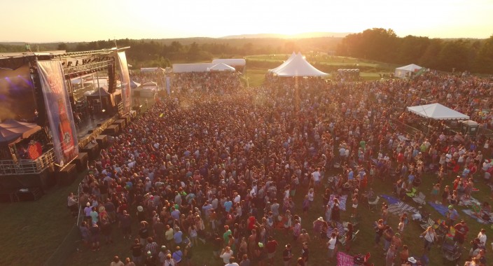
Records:
[[[60,61],[38,61],[39,79],[58,165],[78,155],[77,131]]]

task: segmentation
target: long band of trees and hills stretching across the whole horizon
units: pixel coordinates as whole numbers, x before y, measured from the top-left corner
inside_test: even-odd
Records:
[[[493,35],[487,39],[398,37],[392,29],[373,28],[344,38],[129,38],[83,43],[31,44],[36,50],[76,52],[130,46],[127,59],[134,68],[171,66],[182,62],[210,62],[213,58],[291,54],[293,51],[369,59],[389,64],[419,64],[441,71],[493,73]],[[0,52],[24,52],[24,43],[0,43]]]

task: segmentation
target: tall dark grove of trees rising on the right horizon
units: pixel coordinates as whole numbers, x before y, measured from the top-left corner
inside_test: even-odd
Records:
[[[366,29],[342,38],[337,55],[441,71],[493,73],[493,35],[487,39],[400,38],[392,29]]]

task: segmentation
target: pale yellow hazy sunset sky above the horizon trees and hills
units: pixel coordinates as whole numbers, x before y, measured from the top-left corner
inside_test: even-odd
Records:
[[[393,29],[489,38],[493,0],[3,0],[0,41],[186,38]]]

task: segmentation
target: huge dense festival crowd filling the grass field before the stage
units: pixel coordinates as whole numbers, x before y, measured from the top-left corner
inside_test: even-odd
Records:
[[[412,119],[403,114],[405,106],[426,100],[492,129],[492,113],[485,111],[493,107],[492,80],[430,72],[412,80],[270,79],[242,90],[237,77],[190,73],[174,84],[206,89],[156,102],[90,162],[83,180],[78,203],[88,248],[116,241],[111,236],[117,227],[130,239],[132,256],[125,262],[115,257],[111,265],[193,265],[193,253],[204,243],[216,259],[207,265],[305,266],[312,244],[326,245],[324,256],[333,265],[340,243],[345,252],[357,245],[352,223],[337,228],[345,209],[338,195],[348,196],[347,209],[356,217],[373,198],[377,179],[394,183],[387,194],[403,199],[426,173],[436,177],[429,197],[449,209],[447,226],[454,228],[457,246],[473,240],[466,263],[487,265],[486,231],[468,233],[455,207],[459,197],[471,197],[475,177],[492,173],[491,139],[448,137],[440,127],[410,134],[396,121]],[[491,180],[485,182],[491,186]],[[316,197],[322,207],[313,204]],[[72,195],[69,205],[74,210]],[[388,208],[382,205],[374,225],[375,247],[386,254],[375,265],[426,265],[438,237],[434,228],[423,232],[424,247],[407,246],[401,236],[412,214],[392,228]],[[305,221],[312,211],[321,217]],[[490,212],[484,200],[477,215]],[[293,238],[284,248],[279,230]],[[301,253],[291,249],[297,243]],[[275,261],[277,252],[282,262]]]

